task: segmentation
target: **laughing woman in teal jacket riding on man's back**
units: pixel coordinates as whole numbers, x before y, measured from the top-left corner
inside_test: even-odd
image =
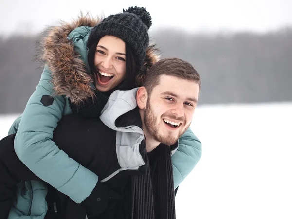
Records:
[[[81,17],[71,25],[50,29],[40,40],[44,71],[9,134],[17,131],[14,146],[19,159],[76,203],[91,197],[98,176],[60,150],[52,141],[53,132],[63,115],[99,116],[112,91],[140,85],[147,69],[158,60],[155,49],[148,46],[150,26],[150,14],[144,8],[131,7],[103,20]],[[116,46],[107,48],[110,45]],[[200,157],[201,143],[189,129],[172,157],[175,188]],[[46,193],[46,183],[20,183],[10,218],[19,212],[43,218],[39,212],[46,211],[42,198]],[[42,209],[36,211],[35,202]]]

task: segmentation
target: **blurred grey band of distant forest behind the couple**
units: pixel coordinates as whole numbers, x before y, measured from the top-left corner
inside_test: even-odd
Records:
[[[292,27],[214,35],[165,29],[150,37],[162,58],[182,58],[200,73],[200,105],[292,101]],[[0,114],[21,113],[36,89],[37,38],[0,37]]]

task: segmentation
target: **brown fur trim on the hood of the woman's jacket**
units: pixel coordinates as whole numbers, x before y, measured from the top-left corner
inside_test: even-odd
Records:
[[[47,28],[37,41],[37,60],[43,62],[52,72],[54,94],[65,95],[74,104],[94,97],[93,76],[88,73],[86,63],[74,50],[74,43],[68,35],[77,27],[93,27],[101,20],[88,14],[85,16],[81,14],[72,23],[63,22],[60,26]],[[149,45],[144,65],[136,77],[138,86],[141,86],[144,75],[158,60],[157,49],[154,45]]]

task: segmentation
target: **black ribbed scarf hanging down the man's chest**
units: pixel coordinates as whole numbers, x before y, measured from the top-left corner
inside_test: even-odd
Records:
[[[143,148],[143,147],[142,147]],[[175,219],[174,185],[170,146],[160,144],[150,174],[146,148],[141,151],[146,174],[132,177],[133,219]]]

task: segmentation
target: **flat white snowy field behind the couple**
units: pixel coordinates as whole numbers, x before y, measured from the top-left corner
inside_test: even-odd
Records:
[[[17,116],[0,116],[0,138]],[[292,103],[198,107],[203,152],[179,187],[177,219],[292,219],[291,126]]]

